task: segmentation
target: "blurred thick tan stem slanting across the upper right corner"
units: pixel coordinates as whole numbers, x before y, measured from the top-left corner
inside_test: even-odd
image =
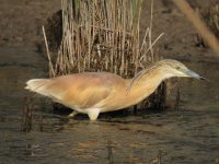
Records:
[[[219,57],[219,42],[217,37],[208,30],[206,24],[195,13],[191,5],[185,0],[173,0],[177,8],[186,15],[186,17],[196,27],[199,35],[208,43],[208,45],[217,52]]]

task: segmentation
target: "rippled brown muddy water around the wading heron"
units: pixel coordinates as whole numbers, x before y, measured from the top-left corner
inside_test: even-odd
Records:
[[[187,66],[211,83],[183,80],[177,112],[66,119],[35,97],[33,128],[21,131],[24,83],[46,77],[34,49],[0,49],[0,163],[214,163],[219,157],[219,66]],[[160,155],[158,155],[160,154]],[[160,157],[157,157],[160,156]]]

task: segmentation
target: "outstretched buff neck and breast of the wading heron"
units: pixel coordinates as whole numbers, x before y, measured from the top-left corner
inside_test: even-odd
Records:
[[[112,94],[111,103],[104,106],[102,112],[116,110],[138,104],[153,93],[163,79],[165,79],[163,73],[158,69],[153,69],[140,72],[140,75],[134,79],[125,80],[125,85],[119,94]]]

